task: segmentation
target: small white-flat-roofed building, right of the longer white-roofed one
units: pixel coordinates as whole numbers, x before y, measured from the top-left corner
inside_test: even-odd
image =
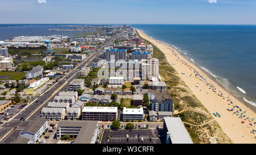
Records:
[[[125,120],[143,120],[143,108],[123,107],[123,121]]]

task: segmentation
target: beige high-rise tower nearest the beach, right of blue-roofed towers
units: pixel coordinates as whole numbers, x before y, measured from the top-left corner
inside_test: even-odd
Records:
[[[159,61],[157,58],[141,60],[142,79],[150,79],[159,76]]]

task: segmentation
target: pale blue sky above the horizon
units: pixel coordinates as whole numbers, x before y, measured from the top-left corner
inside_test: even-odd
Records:
[[[0,23],[256,24],[255,16],[256,0],[0,0]]]

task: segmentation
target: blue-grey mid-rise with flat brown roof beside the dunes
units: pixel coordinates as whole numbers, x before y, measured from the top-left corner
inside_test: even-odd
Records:
[[[148,90],[150,110],[173,112],[172,97],[167,90]]]

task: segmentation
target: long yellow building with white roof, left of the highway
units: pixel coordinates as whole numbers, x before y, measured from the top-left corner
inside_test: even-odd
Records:
[[[38,91],[39,88],[42,87],[48,81],[49,81],[49,78],[46,77],[46,78],[41,78],[38,81],[32,82],[29,87],[24,89],[25,94],[34,94],[34,93],[36,93],[36,91]]]

